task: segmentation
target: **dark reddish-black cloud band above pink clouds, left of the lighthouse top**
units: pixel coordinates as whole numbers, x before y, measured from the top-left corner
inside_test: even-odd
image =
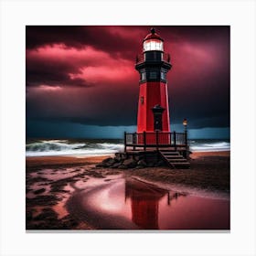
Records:
[[[115,57],[121,54],[122,57],[132,55],[134,58],[140,46],[134,44],[134,36],[138,33],[134,34],[133,30],[138,29],[141,27],[121,27],[119,33],[118,27],[111,26],[27,26],[26,42],[28,49],[54,44],[64,44],[67,48],[93,46],[110,51]],[[141,36],[144,37],[148,31],[141,30]]]

